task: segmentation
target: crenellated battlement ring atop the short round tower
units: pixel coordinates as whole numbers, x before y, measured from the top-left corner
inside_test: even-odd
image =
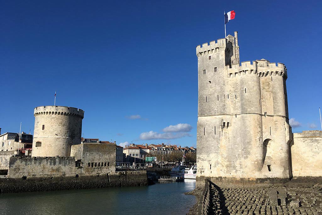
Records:
[[[39,106],[34,108],[33,116],[40,115],[64,115],[71,117],[84,118],[84,111],[76,107],[65,107],[65,106]]]

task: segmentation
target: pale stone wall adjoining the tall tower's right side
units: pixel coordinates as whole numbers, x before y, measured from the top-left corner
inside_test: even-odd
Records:
[[[293,176],[322,176],[322,131],[293,133],[291,142]]]

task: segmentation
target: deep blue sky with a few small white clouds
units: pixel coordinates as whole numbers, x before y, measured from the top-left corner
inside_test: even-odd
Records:
[[[1,1],[0,127],[33,133],[33,108],[85,110],[86,138],[196,145],[199,44],[235,10],[241,61],[288,68],[293,131],[320,129],[321,2]],[[179,125],[178,125],[179,124]],[[157,138],[157,139],[150,139]]]

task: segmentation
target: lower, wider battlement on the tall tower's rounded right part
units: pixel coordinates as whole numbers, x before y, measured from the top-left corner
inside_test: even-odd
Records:
[[[256,61],[243,61],[241,64],[227,65],[228,77],[243,74],[256,74],[259,77],[283,76],[287,79],[287,69],[283,63],[271,63],[265,59]]]

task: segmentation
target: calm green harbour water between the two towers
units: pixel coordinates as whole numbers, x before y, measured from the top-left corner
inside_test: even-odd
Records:
[[[151,186],[0,194],[0,214],[186,214],[195,180]]]

